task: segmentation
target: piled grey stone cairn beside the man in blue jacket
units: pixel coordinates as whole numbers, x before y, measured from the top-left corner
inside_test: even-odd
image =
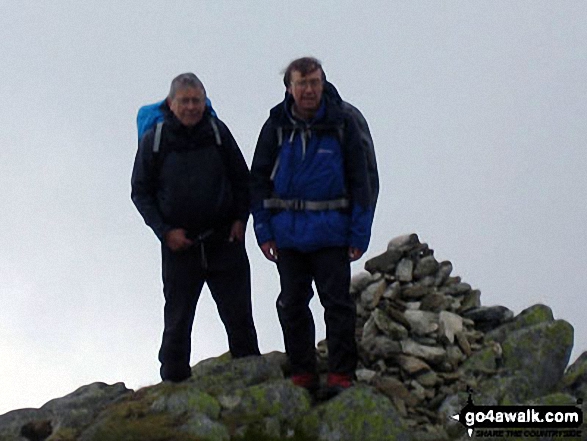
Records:
[[[387,251],[365,264],[352,278],[357,302],[357,379],[387,395],[413,430],[438,433],[446,424],[439,411],[447,397],[474,386],[475,375],[462,364],[486,350],[484,332],[510,320],[502,306],[482,307],[481,292],[451,276],[449,261],[416,234],[389,242]],[[491,342],[499,359],[499,343]],[[326,342],[318,344],[326,363]]]

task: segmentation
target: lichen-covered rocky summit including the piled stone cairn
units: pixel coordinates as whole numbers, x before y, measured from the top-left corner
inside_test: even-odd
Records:
[[[480,291],[453,276],[451,262],[438,262],[416,234],[391,240],[365,270],[351,283],[357,379],[334,398],[294,386],[283,353],[225,354],[195,365],[183,383],[137,391],[94,383],[40,409],[1,415],[0,441],[542,441],[559,437],[538,430],[470,437],[452,416],[471,399],[586,410],[587,352],[567,366],[573,327],[548,306],[514,315],[482,305]],[[322,341],[322,381],[327,356]],[[585,424],[575,435],[564,439],[587,439]]]

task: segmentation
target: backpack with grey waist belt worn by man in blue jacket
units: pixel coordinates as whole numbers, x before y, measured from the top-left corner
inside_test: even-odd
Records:
[[[377,160],[375,157],[375,146],[373,144],[373,138],[371,137],[371,131],[369,130],[369,125],[367,124],[367,120],[361,113],[359,109],[353,106],[346,101],[342,101],[342,110],[345,115],[350,116],[355,123],[357,124],[357,128],[359,129],[359,138],[360,138],[360,148],[365,154],[365,158],[367,160],[367,173],[369,175],[369,199],[370,205],[375,207],[377,203],[377,197],[379,196],[379,173],[377,171]],[[279,166],[279,153],[281,150],[281,145],[284,139],[284,131],[291,129],[290,127],[278,126],[277,127],[277,154],[276,154],[276,161],[273,166],[273,170],[271,172],[271,180],[275,177],[277,172],[277,168]],[[339,142],[342,144],[344,142],[344,131],[345,127],[344,124],[336,125],[336,126],[327,126],[324,124],[314,126],[315,130],[321,131],[330,131],[335,132],[337,134]],[[272,198],[269,202],[268,200],[265,201],[264,206],[266,208],[278,208],[278,209],[308,209],[307,202],[304,201],[294,201],[297,204],[295,207],[290,206],[292,203],[289,201],[280,201],[278,199]],[[300,205],[301,203],[301,205]],[[294,204],[294,205],[295,205]],[[342,205],[342,207],[341,207]],[[301,208],[300,208],[301,207]],[[310,207],[314,207],[314,205],[310,205]],[[325,203],[318,203],[315,204],[316,210],[323,210],[323,209],[339,209],[346,207],[345,203],[342,200],[336,201],[325,201]]]

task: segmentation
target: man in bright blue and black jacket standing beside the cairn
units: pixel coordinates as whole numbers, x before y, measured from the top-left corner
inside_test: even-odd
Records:
[[[315,282],[325,309],[329,373],[335,394],[357,365],[350,262],[369,244],[375,209],[360,131],[315,58],[294,60],[285,99],[270,111],[253,159],[257,242],[277,263],[277,310],[296,385],[319,386],[309,302]],[[347,105],[348,106],[348,105]]]

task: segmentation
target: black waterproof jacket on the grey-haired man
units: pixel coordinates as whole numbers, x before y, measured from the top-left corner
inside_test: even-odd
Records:
[[[162,108],[159,152],[153,152],[155,128],[139,142],[131,178],[133,203],[161,241],[174,228],[184,228],[192,238],[210,229],[228,235],[234,221],[246,223],[249,216],[249,170],[236,141],[208,109],[198,124],[186,127],[166,104]]]

